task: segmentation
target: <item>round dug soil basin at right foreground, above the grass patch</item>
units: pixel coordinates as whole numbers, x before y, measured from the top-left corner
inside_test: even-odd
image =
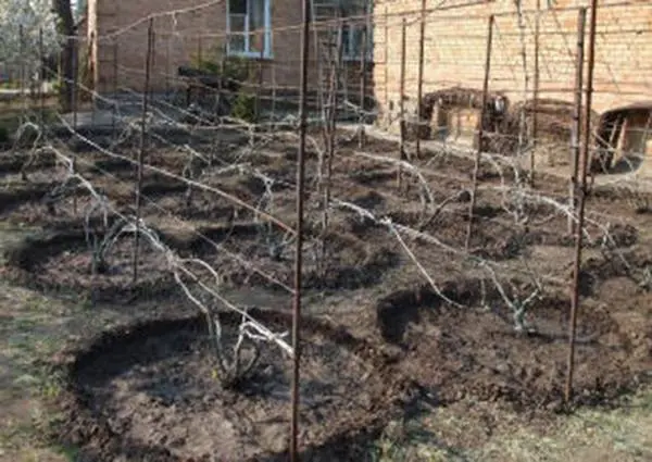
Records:
[[[556,409],[563,396],[568,355],[569,301],[560,295],[531,305],[532,332],[516,333],[512,312],[487,287],[492,310],[479,310],[479,280],[443,286],[454,308],[429,287],[397,291],[377,304],[383,338],[399,347],[399,369],[440,402],[465,397],[502,400],[519,408]],[[622,303],[620,303],[622,304]],[[577,329],[575,401],[594,404],[616,398],[648,377],[652,321],[645,307],[605,308],[585,302]],[[643,313],[641,311],[641,313]]]

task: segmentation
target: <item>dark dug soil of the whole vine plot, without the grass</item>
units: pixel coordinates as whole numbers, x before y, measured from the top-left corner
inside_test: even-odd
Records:
[[[193,173],[205,188],[193,188],[190,198],[176,179],[151,172],[145,177],[145,223],[179,257],[211,265],[225,292],[292,292],[297,150],[280,137],[268,138],[255,149],[226,142],[201,147],[213,163]],[[124,155],[133,158],[129,149]],[[152,145],[151,152],[149,161],[174,175],[189,166],[183,149]],[[360,451],[388,414],[400,410],[396,398],[406,390],[439,405],[490,400],[523,411],[560,408],[575,245],[567,232],[566,179],[541,174],[536,189],[517,189],[510,185],[509,166],[501,172],[482,165],[466,252],[473,162],[446,153],[414,160],[422,176],[404,172],[399,188],[396,164],[384,160],[392,152],[398,153],[394,143],[369,139],[361,157],[341,142],[333,163],[330,208],[324,208],[324,191],[316,187],[317,152],[306,155],[306,311],[340,323],[334,328],[306,320],[303,330],[301,440],[311,460],[364,460]],[[89,159],[84,176],[120,213],[133,214],[133,165]],[[172,294],[168,261],[145,242],[139,282],[131,283],[131,235],[116,242],[106,267],[92,277],[84,234],[92,201],[79,191],[75,200],[61,197],[53,215],[39,199],[42,188],[25,192],[41,184],[49,192],[62,180],[49,175],[50,168],[35,166],[30,186],[5,196],[3,218],[49,229],[47,238],[27,241],[9,255],[24,284],[43,291],[93,292],[109,304]],[[652,218],[628,201],[604,192],[588,198],[577,404],[610,401],[650,379]],[[88,216],[100,229],[101,213]],[[213,273],[197,266],[200,279],[215,284]],[[543,287],[541,298],[527,310],[530,329],[516,333],[509,304],[527,297],[534,279]],[[165,297],[160,297],[160,312],[170,316],[176,302]],[[289,303],[263,297],[251,304]],[[288,327],[285,315],[256,315],[268,327]],[[225,316],[227,336],[233,335],[237,316]],[[248,387],[223,389],[213,377],[202,326],[199,320],[154,321],[77,346],[67,375],[63,439],[98,462],[211,455],[229,462],[285,460],[288,361],[265,346],[259,375]]]

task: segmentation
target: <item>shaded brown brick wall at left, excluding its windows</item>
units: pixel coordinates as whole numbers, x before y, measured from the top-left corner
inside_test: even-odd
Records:
[[[95,83],[99,91],[112,91],[113,86],[128,87],[136,91],[143,88],[145,57],[147,53],[146,18],[150,14],[189,9],[205,3],[204,0],[89,0],[89,32],[99,39],[93,47]],[[278,93],[296,92],[300,83],[301,57],[301,0],[272,1],[272,59],[249,59],[258,72],[262,68],[263,85]],[[151,86],[164,90],[179,82],[175,78],[180,65],[189,65],[200,52],[202,58],[216,57],[215,50],[223,47],[226,35],[225,2],[199,11],[178,12],[174,16],[161,14],[154,20],[155,46]],[[314,36],[311,34],[311,40]],[[201,50],[201,51],[200,51]],[[117,52],[116,52],[117,51]],[[317,60],[314,41],[310,47],[309,86],[318,85]],[[115,72],[114,55],[117,57]],[[368,89],[371,71],[368,70]],[[349,92],[358,95],[360,88],[360,64],[349,62]],[[258,77],[256,77],[258,79]]]

